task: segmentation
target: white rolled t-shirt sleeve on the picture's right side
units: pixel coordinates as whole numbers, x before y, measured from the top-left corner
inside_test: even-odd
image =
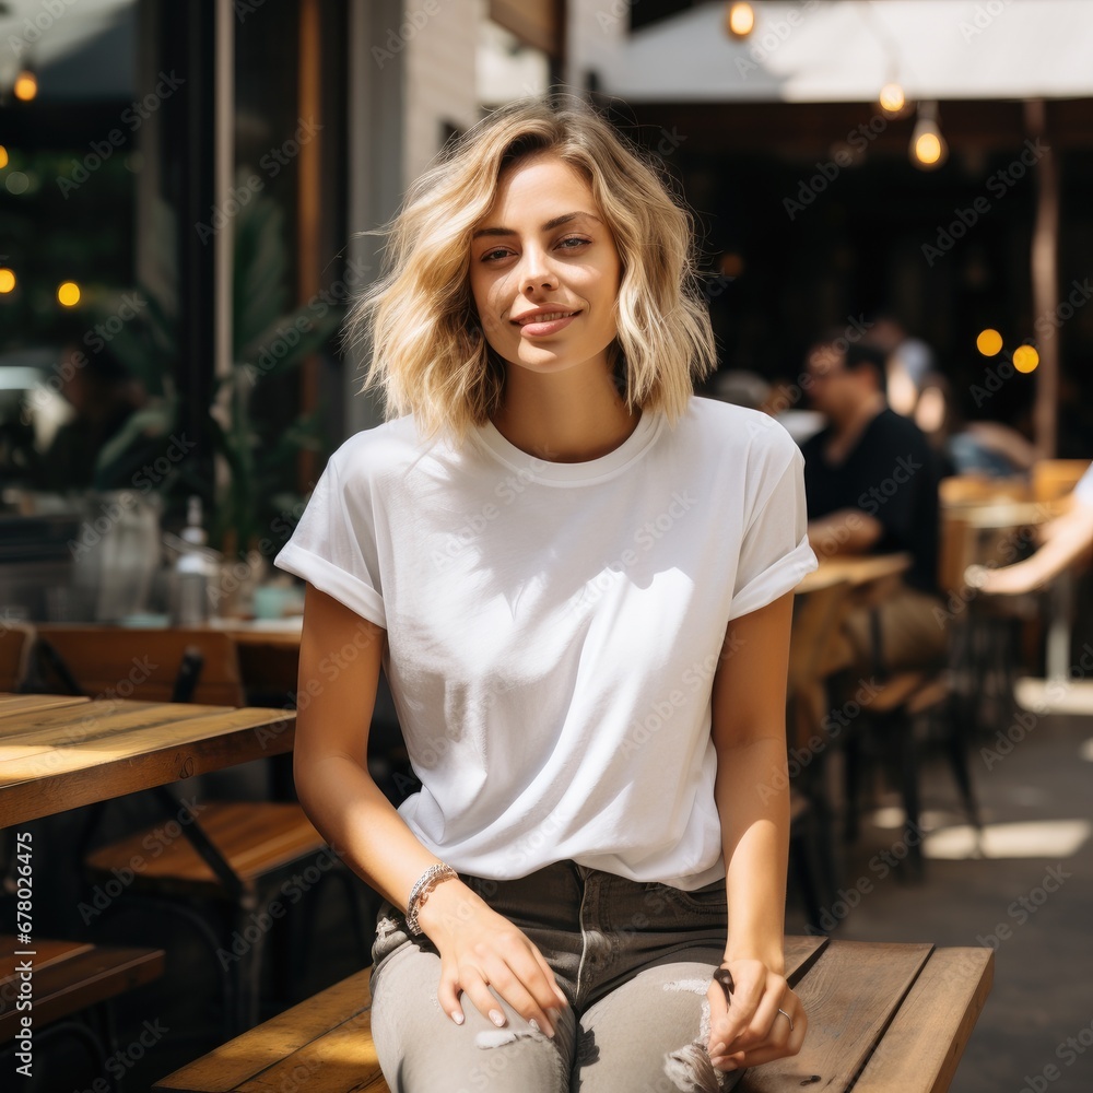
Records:
[[[780,473],[763,481],[744,530],[730,619],[773,603],[818,565],[809,545],[804,460],[792,440],[789,446]]]

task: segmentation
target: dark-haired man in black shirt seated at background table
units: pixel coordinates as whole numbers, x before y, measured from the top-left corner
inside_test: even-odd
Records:
[[[889,669],[940,661],[945,630],[937,587],[938,471],[925,435],[888,408],[884,352],[867,342],[824,339],[809,353],[812,404],[828,424],[802,446],[809,540],[822,559],[835,553],[907,551],[912,566],[878,609]],[[866,610],[851,612],[847,637],[855,667],[875,663]]]

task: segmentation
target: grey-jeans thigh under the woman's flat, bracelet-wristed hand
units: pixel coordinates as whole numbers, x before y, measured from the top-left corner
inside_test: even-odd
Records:
[[[372,1036],[392,1093],[567,1093],[576,1023],[560,1015],[554,1039],[512,1007],[497,1029],[463,998],[457,1025],[436,991],[440,957],[427,942],[403,941],[377,965],[372,980]]]

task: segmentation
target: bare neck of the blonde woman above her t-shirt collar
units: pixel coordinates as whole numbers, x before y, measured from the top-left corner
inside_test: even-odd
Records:
[[[509,444],[540,459],[578,463],[618,448],[637,427],[606,368],[531,373],[509,366],[493,423]]]

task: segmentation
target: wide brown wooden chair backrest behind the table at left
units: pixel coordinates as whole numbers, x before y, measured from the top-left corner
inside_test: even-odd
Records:
[[[56,650],[83,694],[169,702],[181,672],[200,658],[191,702],[244,706],[246,694],[235,643],[214,630],[127,630],[115,626],[38,627],[39,642]],[[187,654],[193,650],[196,657]],[[63,686],[56,666],[38,656],[46,685]]]

